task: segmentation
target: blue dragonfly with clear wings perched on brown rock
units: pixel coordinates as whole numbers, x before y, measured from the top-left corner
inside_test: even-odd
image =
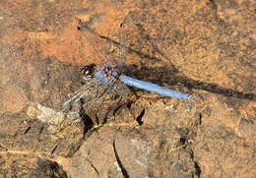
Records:
[[[82,89],[79,89],[70,99],[63,103],[64,109],[61,111],[64,111],[67,108],[67,106],[80,101],[81,98],[85,97],[88,94],[87,89],[95,85],[96,87],[98,85],[103,85],[106,87],[106,89],[101,94],[98,94],[96,96],[95,100],[93,101],[93,103],[91,103],[91,105],[87,108],[86,111],[90,110],[99,98],[109,93],[114,87],[123,84],[127,87],[145,89],[148,91],[157,92],[161,95],[175,97],[178,99],[192,99],[192,96],[189,94],[182,93],[173,89],[168,89],[166,87],[162,87],[151,82],[138,80],[124,74],[127,54],[127,39],[125,26],[126,25],[124,23],[120,24],[118,60],[104,60],[105,62],[100,67],[96,67],[96,64],[84,66],[81,71],[83,79],[86,81],[86,85],[84,85]],[[85,29],[86,30],[81,30],[81,28],[78,28],[78,30],[81,30],[82,34],[85,35],[86,39],[89,40],[89,42],[94,47],[96,52],[102,58],[104,58],[105,56],[103,56],[102,53],[96,48],[96,41],[92,36],[93,34],[89,34],[89,32],[94,33],[94,31],[90,30],[90,28],[88,28],[87,26],[85,27]]]

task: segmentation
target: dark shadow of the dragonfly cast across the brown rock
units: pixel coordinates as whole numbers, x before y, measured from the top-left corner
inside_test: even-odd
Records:
[[[91,30],[89,28],[89,24],[83,24],[82,22],[80,22],[80,25],[82,25],[82,26],[78,27],[78,30],[83,30],[83,29],[90,30],[96,36],[98,36],[102,39],[105,39],[114,45],[117,45],[117,46],[121,45],[120,42],[117,42],[110,37],[100,35],[95,30]],[[231,97],[247,99],[247,100],[254,100],[254,101],[256,100],[256,95],[253,93],[245,93],[245,92],[237,91],[234,89],[225,89],[216,84],[205,83],[205,82],[196,81],[196,80],[184,77],[184,76],[180,76],[181,73],[176,69],[176,67],[172,63],[169,62],[170,60],[168,60],[168,57],[165,56],[160,51],[160,49],[154,43],[154,41],[151,40],[151,36],[149,34],[147,34],[147,31],[144,30],[143,27],[139,24],[137,24],[136,26],[138,27],[138,30],[140,30],[140,34],[142,34],[144,36],[143,38],[146,41],[145,43],[148,43],[149,45],[153,46],[153,49],[155,51],[153,53],[160,54],[160,58],[163,58],[164,61],[168,61],[168,63],[164,67],[152,67],[152,68],[146,67],[146,65],[142,64],[142,67],[140,68],[140,70],[138,70],[137,66],[135,66],[135,65],[125,66],[125,68],[129,69],[129,70],[124,70],[124,71],[127,71],[125,73],[126,75],[129,75],[129,76],[134,77],[139,80],[147,80],[149,82],[159,84],[160,86],[162,86],[162,84],[167,84],[170,87],[173,86],[173,87],[178,87],[181,89],[185,88],[187,90],[202,89],[202,90],[206,90],[206,91],[209,91],[212,93],[217,93],[217,94],[224,95],[224,96],[231,96]],[[138,51],[138,50],[133,49],[128,46],[127,46],[127,49],[129,51],[129,53],[134,53],[134,54],[140,56],[140,58],[142,58],[142,59],[148,59],[148,61],[150,60],[150,61],[154,61],[154,62],[162,62],[162,60],[160,58],[158,58],[154,55],[149,55],[149,54],[143,53],[141,51]],[[158,74],[158,75],[156,76],[156,74]]]

